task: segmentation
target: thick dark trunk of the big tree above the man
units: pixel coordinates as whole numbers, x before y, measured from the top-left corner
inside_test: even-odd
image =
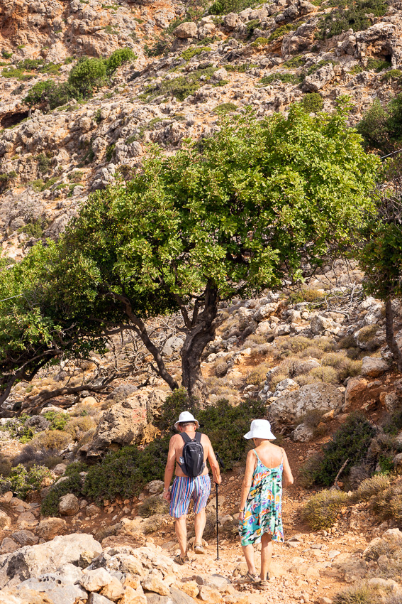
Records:
[[[215,319],[218,311],[218,289],[208,284],[203,312],[194,312],[191,327],[182,347],[182,384],[190,397],[205,401],[208,394],[201,374],[201,355],[206,345],[215,338]]]

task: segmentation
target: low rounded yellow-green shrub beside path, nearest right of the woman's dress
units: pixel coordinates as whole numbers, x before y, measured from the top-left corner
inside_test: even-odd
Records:
[[[313,495],[303,506],[301,517],[313,531],[330,529],[335,524],[342,507],[347,504],[346,493],[337,490],[323,490]]]

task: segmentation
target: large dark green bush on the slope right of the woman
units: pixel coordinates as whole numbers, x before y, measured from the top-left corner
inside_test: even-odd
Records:
[[[352,465],[364,458],[373,436],[374,428],[364,415],[350,414],[333,438],[323,446],[320,463],[316,463],[309,472],[311,481],[330,487],[342,465],[349,460],[343,470],[343,474],[347,475]]]

